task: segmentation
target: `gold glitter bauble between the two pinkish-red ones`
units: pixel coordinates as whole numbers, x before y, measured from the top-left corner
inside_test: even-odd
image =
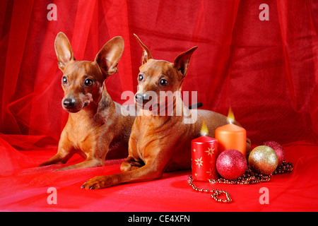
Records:
[[[271,174],[278,166],[278,157],[275,150],[266,145],[254,148],[249,153],[249,166],[254,172]]]

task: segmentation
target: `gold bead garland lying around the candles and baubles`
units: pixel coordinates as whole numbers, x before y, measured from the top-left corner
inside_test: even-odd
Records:
[[[293,171],[293,163],[283,161],[283,163],[279,165],[276,168],[276,170],[269,175],[252,172],[252,169],[250,169],[250,167],[247,167],[245,174],[243,174],[242,177],[239,177],[237,179],[224,179],[221,177],[219,179],[211,179],[209,180],[209,182],[211,182],[212,184],[258,184],[261,182],[269,182],[273,174],[283,174],[285,172],[292,172],[292,171]],[[218,189],[212,189],[212,190],[199,189],[198,187],[196,187],[193,181],[194,179],[192,177],[192,174],[189,174],[188,183],[190,186],[192,186],[192,189],[194,189],[194,191],[211,193],[211,197],[218,202],[223,202],[223,203],[232,202],[232,198],[230,196],[230,193],[228,193],[228,191],[218,190]],[[220,194],[225,194],[226,199],[219,198]]]

